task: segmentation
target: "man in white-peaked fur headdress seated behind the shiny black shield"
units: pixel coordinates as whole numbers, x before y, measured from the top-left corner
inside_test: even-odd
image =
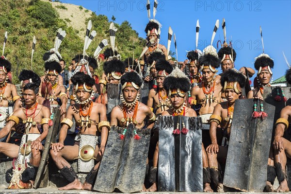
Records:
[[[196,112],[192,108],[186,106],[187,103],[185,98],[187,96],[187,92],[190,89],[190,80],[181,70],[179,70],[178,68],[173,70],[172,73],[165,78],[163,82],[163,87],[167,91],[167,95],[168,98],[170,98],[172,108],[162,112],[162,116],[178,116],[178,115],[186,117],[197,116]],[[207,162],[207,155],[205,153],[203,143],[202,143],[202,161],[203,161],[203,188],[204,188],[203,191],[213,192],[213,190],[211,190],[210,188],[209,179],[210,172]]]

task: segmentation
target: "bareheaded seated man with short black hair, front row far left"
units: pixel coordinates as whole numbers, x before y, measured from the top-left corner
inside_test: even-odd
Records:
[[[8,123],[4,128],[0,130],[0,138],[7,135],[11,128],[19,123],[19,120],[23,123],[22,127],[19,127],[21,133],[25,134],[22,137],[20,146],[0,142],[0,153],[8,156],[9,158],[16,158],[18,169],[21,169],[19,174],[17,170],[12,169],[6,174],[6,181],[10,182],[9,189],[17,188],[31,188],[29,180],[34,180],[37,172],[37,168],[41,159],[41,150],[44,148],[42,141],[47,137],[49,129],[49,108],[38,105],[36,99],[38,98],[38,85],[34,83],[28,83],[23,88],[23,99],[25,106],[18,108],[12,116],[8,118]],[[26,152],[21,150],[26,147]],[[20,149],[19,149],[20,148]],[[31,149],[31,155],[29,150]],[[31,156],[31,158],[30,158]],[[27,167],[26,167],[27,164]],[[17,169],[17,168],[16,168]],[[32,171],[30,173],[23,171]],[[13,174],[13,176],[11,176]],[[25,177],[29,176],[29,177]]]

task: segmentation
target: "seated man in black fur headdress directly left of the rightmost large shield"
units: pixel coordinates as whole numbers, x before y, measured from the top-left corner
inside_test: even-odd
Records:
[[[210,116],[210,139],[211,144],[206,148],[210,166],[211,182],[214,184],[217,192],[223,192],[222,180],[219,180],[219,171],[217,160],[225,163],[227,156],[228,140],[231,131],[231,122],[235,100],[242,95],[245,77],[236,71],[228,70],[221,74],[221,85],[226,94],[226,102],[219,103],[215,106],[213,114]],[[220,127],[218,127],[220,125]],[[221,140],[217,139],[217,132],[222,133],[222,146],[218,145]]]

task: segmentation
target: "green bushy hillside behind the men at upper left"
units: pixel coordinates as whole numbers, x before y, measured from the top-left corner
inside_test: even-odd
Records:
[[[21,69],[31,69],[33,35],[35,35],[37,42],[32,69],[40,76],[44,72],[42,56],[53,47],[57,29],[62,28],[67,34],[59,49],[67,65],[75,54],[82,52],[84,29],[79,29],[78,26],[68,26],[68,22],[74,18],[60,18],[57,10],[52,7],[49,1],[1,0],[0,5],[0,47],[2,48],[4,33],[7,31],[8,40],[4,55],[13,64],[14,83],[18,83],[17,75]],[[62,9],[62,6],[58,6],[58,8]],[[80,11],[84,10],[80,9]],[[96,15],[95,13],[92,13],[87,21],[89,19],[93,23],[91,30],[97,31],[97,36],[87,50],[88,54],[93,54],[102,39],[110,40],[109,25],[111,21],[107,16]],[[146,40],[138,36],[138,33],[131,28],[128,21],[124,21],[121,24],[115,23],[115,27],[118,28],[115,46],[117,45],[122,59],[132,56],[133,42],[135,57],[138,57]],[[102,66],[102,64],[99,65],[100,67]]]

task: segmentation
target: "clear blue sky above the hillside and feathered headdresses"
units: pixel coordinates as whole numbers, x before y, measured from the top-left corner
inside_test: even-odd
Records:
[[[128,20],[139,36],[146,37],[148,22],[146,0],[62,0],[81,5],[96,14],[106,15],[116,23]],[[151,3],[151,17],[153,3]],[[156,19],[162,24],[161,43],[167,45],[168,28],[171,26],[177,38],[178,60],[186,59],[186,51],[195,49],[195,27],[199,19],[198,49],[210,44],[216,19],[219,29],[214,38],[223,40],[222,19],[226,19],[226,36],[232,39],[237,58],[235,68],[254,69],[254,58],[262,53],[259,26],[262,27],[265,53],[274,59],[274,80],[284,75],[287,64],[284,51],[291,64],[291,0],[158,0]],[[117,31],[118,33],[118,31]],[[175,51],[172,39],[171,50]]]

